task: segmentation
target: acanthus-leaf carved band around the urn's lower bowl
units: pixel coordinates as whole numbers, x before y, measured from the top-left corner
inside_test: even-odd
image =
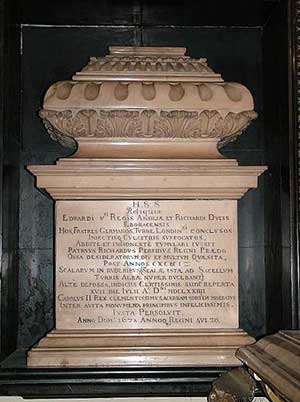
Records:
[[[217,110],[42,110],[51,137],[74,147],[73,138],[189,138],[220,139],[221,144],[240,135],[257,114],[254,111],[228,113]]]

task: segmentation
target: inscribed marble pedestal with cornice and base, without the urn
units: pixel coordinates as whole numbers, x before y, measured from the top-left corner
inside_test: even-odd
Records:
[[[31,367],[239,365],[237,201],[263,167],[233,160],[31,166],[56,200],[56,328]]]

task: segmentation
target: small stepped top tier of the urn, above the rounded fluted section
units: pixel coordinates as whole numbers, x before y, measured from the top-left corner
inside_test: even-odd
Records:
[[[184,47],[109,47],[109,55],[91,57],[75,76],[76,81],[192,81],[223,82],[205,58],[185,55]]]

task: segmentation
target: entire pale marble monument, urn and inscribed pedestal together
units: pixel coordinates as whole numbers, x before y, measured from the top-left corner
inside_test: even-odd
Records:
[[[256,118],[241,84],[184,48],[111,47],[40,116],[72,148],[29,166],[55,200],[55,328],[30,367],[234,366],[237,200],[262,166],[220,146]]]

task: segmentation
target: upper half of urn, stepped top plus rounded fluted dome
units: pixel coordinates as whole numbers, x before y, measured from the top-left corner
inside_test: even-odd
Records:
[[[225,83],[206,59],[185,56],[185,48],[110,47],[92,57],[71,81],[56,82],[44,98],[46,110],[253,110],[250,91]]]

